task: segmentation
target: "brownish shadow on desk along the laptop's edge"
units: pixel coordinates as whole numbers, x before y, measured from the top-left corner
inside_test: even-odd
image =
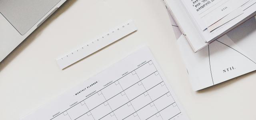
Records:
[[[74,4],[77,0],[67,0],[56,12],[52,14],[40,27],[36,28],[22,43],[20,43],[2,62],[0,62],[0,72],[8,66],[12,60],[16,58],[30,43],[32,43],[38,35],[41,34],[41,31],[46,28],[52,21],[54,21],[60,14],[65,12]]]

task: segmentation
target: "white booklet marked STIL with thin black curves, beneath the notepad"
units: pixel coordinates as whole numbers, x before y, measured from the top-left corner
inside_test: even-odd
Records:
[[[230,80],[256,70],[256,20],[251,18],[197,53],[170,15],[193,90]]]

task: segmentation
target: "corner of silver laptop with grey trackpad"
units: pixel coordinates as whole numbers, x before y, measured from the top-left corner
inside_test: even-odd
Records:
[[[0,0],[0,62],[66,0]]]

